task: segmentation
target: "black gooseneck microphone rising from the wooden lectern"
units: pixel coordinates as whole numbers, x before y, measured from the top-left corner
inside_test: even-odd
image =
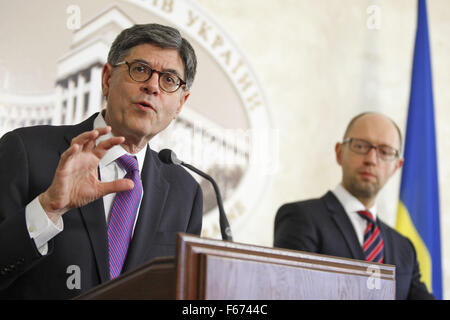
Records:
[[[206,180],[212,183],[214,187],[214,191],[216,192],[216,198],[217,198],[217,204],[219,206],[219,222],[220,222],[220,232],[222,233],[222,240],[227,241],[233,241],[233,237],[231,235],[231,228],[230,224],[228,223],[227,216],[225,214],[225,210],[223,209],[223,203],[222,203],[222,197],[220,196],[219,187],[217,186],[217,183],[214,181],[211,176],[207,175],[206,173],[198,170],[197,168],[191,166],[190,164],[184,163],[180,159],[177,158],[177,155],[175,152],[173,152],[170,149],[163,149],[158,153],[159,159],[164,162],[165,164],[176,164],[176,165],[182,165],[198,175],[202,176]]]

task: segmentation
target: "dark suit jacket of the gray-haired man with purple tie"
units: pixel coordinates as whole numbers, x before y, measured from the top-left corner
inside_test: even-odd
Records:
[[[0,299],[71,298],[109,280],[102,199],[65,213],[64,230],[49,241],[45,256],[25,222],[25,206],[49,187],[61,154],[74,137],[92,130],[96,116],[75,126],[21,128],[0,140]],[[174,256],[176,233],[201,232],[202,192],[191,175],[147,148],[141,178],[144,197],[123,272]],[[80,290],[67,286],[69,266],[79,267]]]

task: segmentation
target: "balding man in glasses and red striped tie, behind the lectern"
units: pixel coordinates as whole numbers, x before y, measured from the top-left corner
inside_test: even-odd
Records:
[[[433,299],[412,243],[377,215],[378,192],[403,164],[401,141],[398,126],[381,114],[353,118],[335,147],[342,182],[319,199],[283,205],[274,246],[393,264],[397,299]]]

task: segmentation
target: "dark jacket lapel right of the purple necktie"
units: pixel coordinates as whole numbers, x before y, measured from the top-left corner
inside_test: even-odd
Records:
[[[141,173],[144,196],[122,272],[133,269],[148,259],[146,253],[158,230],[169,192],[169,184],[161,175],[160,165],[156,155],[147,146]]]

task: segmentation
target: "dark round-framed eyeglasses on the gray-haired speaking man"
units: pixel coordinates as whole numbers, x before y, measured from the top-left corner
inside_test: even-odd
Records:
[[[176,74],[152,69],[148,64],[140,61],[133,61],[131,63],[128,61],[122,61],[117,63],[114,67],[118,67],[122,64],[126,64],[128,66],[130,78],[136,82],[145,82],[152,77],[153,72],[156,72],[158,74],[159,87],[167,93],[175,92],[182,85],[186,84],[186,82],[181,80]]]

